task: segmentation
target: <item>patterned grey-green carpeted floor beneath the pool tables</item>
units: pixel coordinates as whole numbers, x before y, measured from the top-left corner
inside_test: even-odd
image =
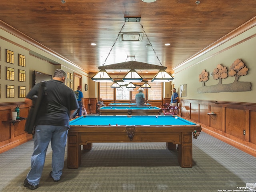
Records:
[[[25,192],[33,141],[0,154],[0,191]],[[201,132],[193,140],[193,168],[181,168],[166,143],[94,143],[82,164],[60,182],[49,178],[51,149],[37,192],[224,192],[256,182],[256,158]],[[65,157],[66,158],[66,157]]]

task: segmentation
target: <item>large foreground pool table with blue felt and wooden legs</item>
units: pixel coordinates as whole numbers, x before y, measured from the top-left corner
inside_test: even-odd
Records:
[[[81,164],[81,145],[90,150],[92,143],[166,142],[176,150],[182,168],[192,167],[192,132],[201,126],[175,116],[80,116],[70,121],[68,131],[68,168]]]

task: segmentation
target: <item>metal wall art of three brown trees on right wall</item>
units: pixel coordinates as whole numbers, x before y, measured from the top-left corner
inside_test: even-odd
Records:
[[[238,81],[240,76],[247,75],[248,68],[245,66],[241,59],[236,59],[230,66],[229,71],[221,64],[217,65],[217,68],[213,71],[213,79],[219,80],[218,84],[212,86],[206,86],[208,81],[208,72],[203,70],[199,75],[199,82],[203,82],[202,87],[197,89],[198,93],[218,93],[218,92],[240,92],[250,91],[250,82]],[[234,82],[230,84],[222,84],[222,80],[228,77],[235,77]]]

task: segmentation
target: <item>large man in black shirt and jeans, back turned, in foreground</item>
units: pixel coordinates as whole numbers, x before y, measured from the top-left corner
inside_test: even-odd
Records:
[[[36,117],[31,169],[23,182],[23,186],[30,190],[39,186],[50,141],[52,171],[49,176],[58,182],[62,175],[69,120],[79,108],[76,95],[65,85],[65,80],[66,72],[57,69],[52,80],[46,82],[45,94]],[[28,106],[33,106],[33,98],[38,95],[39,87],[40,83],[27,94],[25,103]]]

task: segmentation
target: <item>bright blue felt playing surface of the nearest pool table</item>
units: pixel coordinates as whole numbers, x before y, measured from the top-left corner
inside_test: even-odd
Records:
[[[177,117],[177,118],[175,118]],[[196,125],[178,116],[81,116],[70,121],[70,126],[74,125]]]

